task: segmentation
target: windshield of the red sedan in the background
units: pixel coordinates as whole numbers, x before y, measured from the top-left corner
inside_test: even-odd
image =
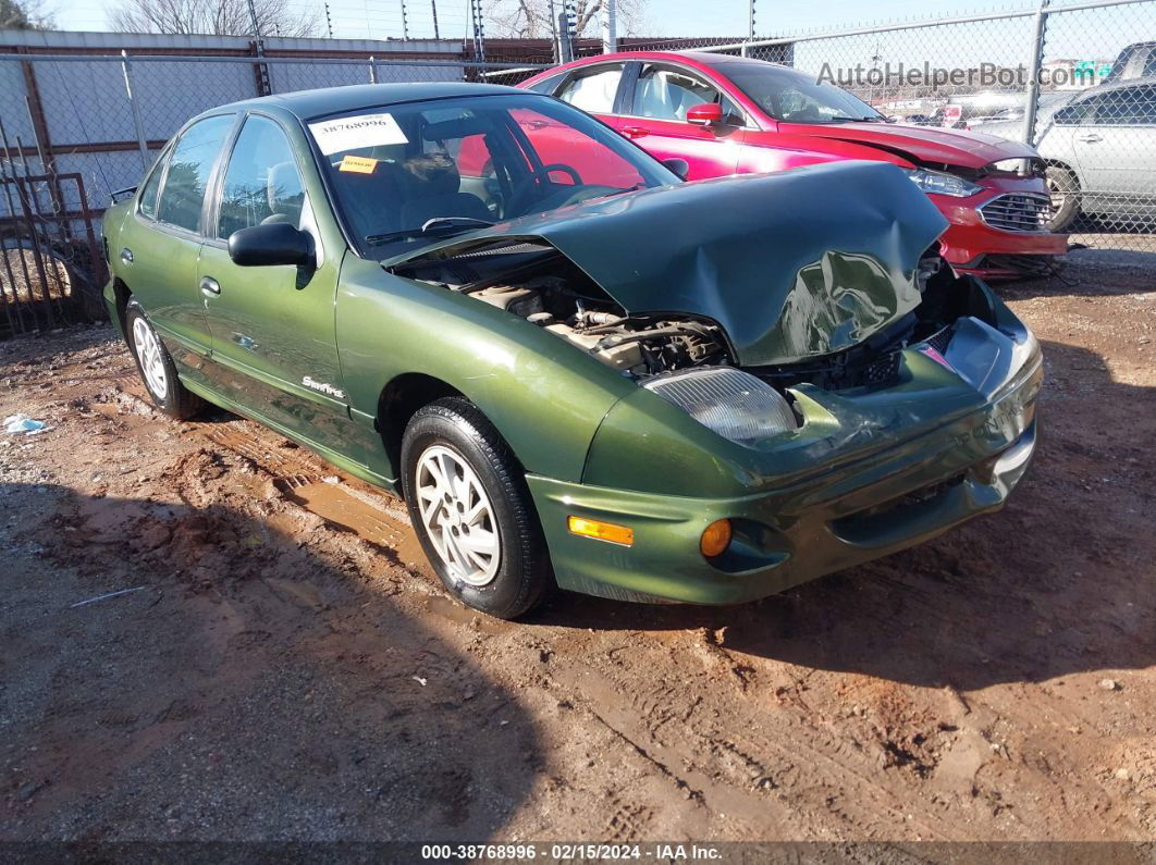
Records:
[[[835,84],[764,62],[727,64],[726,76],[770,117],[784,124],[882,122],[875,109]]]

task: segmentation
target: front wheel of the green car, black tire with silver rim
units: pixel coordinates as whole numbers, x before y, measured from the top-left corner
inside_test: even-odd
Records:
[[[421,409],[401,440],[402,491],[417,539],[442,583],[467,606],[513,619],[551,582],[521,468],[466,400]]]

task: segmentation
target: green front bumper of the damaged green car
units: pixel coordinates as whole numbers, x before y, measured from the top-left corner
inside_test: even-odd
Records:
[[[969,351],[975,350],[973,346]],[[1022,356],[1021,356],[1021,359]],[[932,428],[888,432],[781,487],[696,498],[528,476],[562,588],[621,601],[731,604],[922,543],[999,509],[1036,449],[1039,352],[981,404]],[[709,458],[704,455],[704,458]],[[622,546],[571,535],[569,516],[633,529]],[[735,539],[707,560],[703,529],[729,519]]]

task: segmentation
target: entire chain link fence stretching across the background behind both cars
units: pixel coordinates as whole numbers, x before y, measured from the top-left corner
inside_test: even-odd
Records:
[[[50,248],[81,261],[86,226],[99,219],[111,194],[134,186],[180,125],[215,105],[369,82],[517,83],[548,68],[557,51],[549,40],[412,40],[388,43],[390,55],[380,57],[339,51],[341,42],[314,40],[307,51],[261,51],[257,40],[129,53],[8,46],[0,52],[5,254],[23,261],[29,238],[47,237],[37,221],[52,219]],[[618,47],[785,64],[929,133],[963,128],[1029,141],[1048,165],[1053,226],[1070,232],[1074,246],[1139,253],[1140,261],[1156,252],[1156,0],[1054,0],[838,32],[749,42],[631,38]],[[572,49],[588,54],[599,45],[584,39]],[[79,182],[61,184],[62,176]],[[87,201],[75,200],[81,186]]]

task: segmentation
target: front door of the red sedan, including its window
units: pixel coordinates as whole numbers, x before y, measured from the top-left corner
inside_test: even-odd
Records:
[[[717,87],[696,72],[655,62],[642,64],[623,89],[622,113],[608,119],[620,133],[660,159],[686,159],[688,180],[735,173],[744,119]],[[722,125],[687,122],[687,110],[705,103],[722,106]]]

